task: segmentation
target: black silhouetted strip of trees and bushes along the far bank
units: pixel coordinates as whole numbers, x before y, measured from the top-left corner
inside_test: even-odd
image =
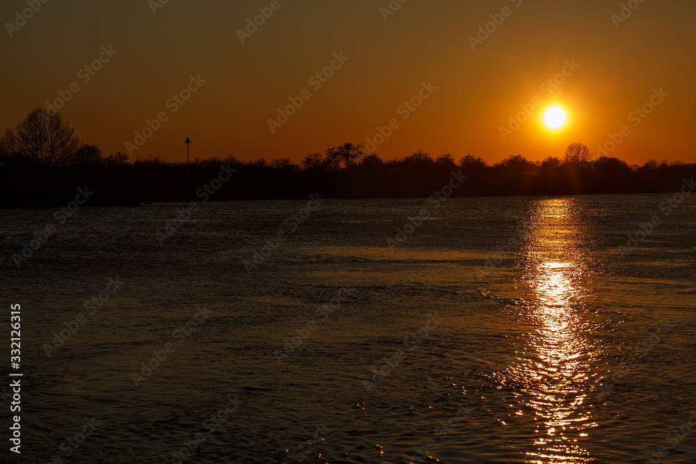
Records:
[[[317,192],[322,198],[427,197],[459,171],[468,179],[453,196],[672,193],[696,171],[696,163],[651,160],[629,166],[613,157],[593,160],[581,143],[560,155],[529,161],[517,154],[489,165],[470,154],[433,158],[419,151],[384,161],[362,145],[344,143],[300,164],[230,155],[194,159],[187,166],[159,157],[130,161],[123,152],[106,155],[82,143],[58,113],[35,109],[0,137],[0,205],[57,207],[84,186],[95,192],[89,201],[95,206],[198,201],[196,192],[218,177],[221,165],[237,172],[211,200],[302,199]]]

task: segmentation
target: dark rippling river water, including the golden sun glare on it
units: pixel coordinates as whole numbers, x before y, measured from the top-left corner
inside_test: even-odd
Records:
[[[166,239],[183,205],[1,210],[21,462],[696,463],[696,204],[666,196],[331,200],[294,231],[306,202],[208,203]]]

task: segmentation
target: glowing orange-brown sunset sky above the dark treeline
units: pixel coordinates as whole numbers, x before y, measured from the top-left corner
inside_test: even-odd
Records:
[[[384,159],[423,150],[490,163],[510,154],[537,160],[560,157],[573,142],[597,152],[626,125],[611,156],[696,161],[691,0],[633,0],[640,6],[630,16],[624,10],[621,22],[612,19],[621,2],[599,0],[410,0],[388,16],[380,8],[389,0],[169,1],[153,14],[157,1],[49,1],[26,24],[6,24],[0,125],[15,125],[74,82],[79,91],[63,93],[72,95],[60,111],[107,153],[126,151],[134,131],[163,113],[133,157],[183,160],[189,136],[192,157],[300,161],[328,145],[367,143],[392,120],[395,129],[383,129],[391,133],[377,146]],[[0,18],[15,23],[25,8],[26,0],[3,1]],[[237,30],[258,8],[272,15],[242,44]],[[473,49],[470,37],[488,22],[493,32]],[[111,58],[102,49],[109,46],[118,51]],[[100,55],[109,59],[90,75],[84,67]],[[310,81],[332,62],[333,76]],[[183,104],[168,104],[191,75],[205,83]],[[421,91],[422,83],[436,89]],[[299,102],[305,89],[310,98],[272,132],[278,107]],[[660,104],[644,119],[632,115],[655,89],[663,89],[653,98]],[[418,108],[402,106],[419,92],[427,99]],[[500,127],[532,102],[539,108],[503,140]],[[551,104],[569,116],[558,131],[541,123]]]

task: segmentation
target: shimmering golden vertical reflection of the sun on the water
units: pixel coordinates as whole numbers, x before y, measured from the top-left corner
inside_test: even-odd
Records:
[[[512,370],[522,379],[518,401],[535,413],[537,439],[526,454],[528,463],[593,461],[582,445],[596,426],[585,404],[594,349],[583,318],[589,291],[583,285],[586,257],[574,201],[539,202],[525,248],[523,282],[532,298],[523,311],[535,329],[528,333],[531,356]]]

